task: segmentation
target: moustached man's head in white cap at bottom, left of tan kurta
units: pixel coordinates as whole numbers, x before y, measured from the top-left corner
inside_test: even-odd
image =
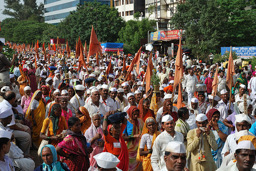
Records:
[[[163,159],[166,164],[161,171],[188,170],[185,168],[187,163],[186,148],[182,142],[169,142],[165,148]]]

